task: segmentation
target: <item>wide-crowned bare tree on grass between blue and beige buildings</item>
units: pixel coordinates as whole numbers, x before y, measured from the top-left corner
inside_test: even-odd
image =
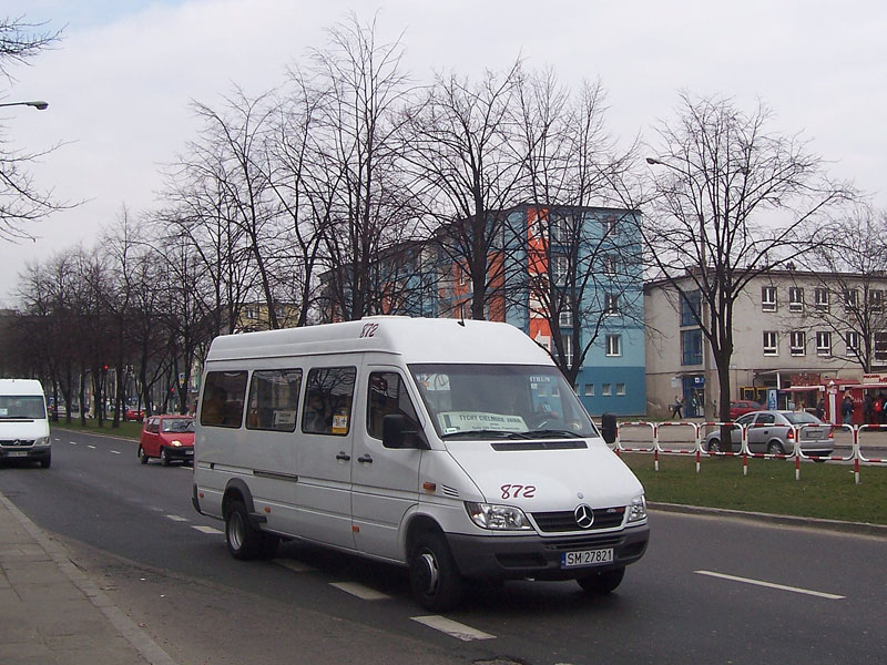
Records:
[[[655,198],[641,227],[657,277],[679,298],[701,300],[694,317],[718,375],[718,418],[730,420],[730,362],[736,299],[758,275],[808,252],[828,233],[817,222],[852,191],[829,182],[798,136],[769,130],[771,113],[730,100],[682,94],[662,123]],[[689,298],[690,294],[694,294]]]

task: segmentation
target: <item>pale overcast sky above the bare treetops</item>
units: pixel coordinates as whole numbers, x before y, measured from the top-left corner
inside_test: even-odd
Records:
[[[0,241],[0,304],[28,262],[92,246],[123,206],[155,207],[159,168],[195,137],[192,100],[221,105],[281,84],[288,64],[325,45],[324,29],[378,10],[383,38],[402,33],[417,83],[435,70],[476,75],[522,54],[564,83],[600,79],[609,127],[628,143],[670,119],[680,90],[759,99],[773,127],[803,132],[887,208],[887,3],[877,0],[4,0],[8,18],[63,28],[62,41],[0,80],[0,102],[47,100],[47,111],[2,109],[20,147],[64,145],[32,173],[60,200],[84,201],[32,232]],[[643,165],[639,165],[643,167]]]

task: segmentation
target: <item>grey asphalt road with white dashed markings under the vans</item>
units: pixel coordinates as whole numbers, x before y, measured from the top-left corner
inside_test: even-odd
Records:
[[[3,493],[183,665],[887,662],[887,539],[653,512],[611,596],[516,582],[429,617],[400,569],[293,543],[237,562],[188,468],[53,437],[52,468],[1,469]]]

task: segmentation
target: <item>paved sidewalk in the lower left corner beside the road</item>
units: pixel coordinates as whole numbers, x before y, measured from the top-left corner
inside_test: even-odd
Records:
[[[2,492],[0,663],[175,665]]]

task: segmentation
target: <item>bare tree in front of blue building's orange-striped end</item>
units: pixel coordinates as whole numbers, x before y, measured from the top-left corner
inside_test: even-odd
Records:
[[[520,305],[529,294],[531,336],[540,328],[551,337],[554,361],[574,382],[602,335],[643,325],[642,293],[632,289],[641,279],[639,213],[601,209],[631,198],[635,146],[619,151],[606,132],[600,83],[574,96],[547,71],[521,76],[516,98],[516,160],[532,208],[510,228],[526,243],[508,254],[517,277],[509,282],[519,286],[509,296]]]

